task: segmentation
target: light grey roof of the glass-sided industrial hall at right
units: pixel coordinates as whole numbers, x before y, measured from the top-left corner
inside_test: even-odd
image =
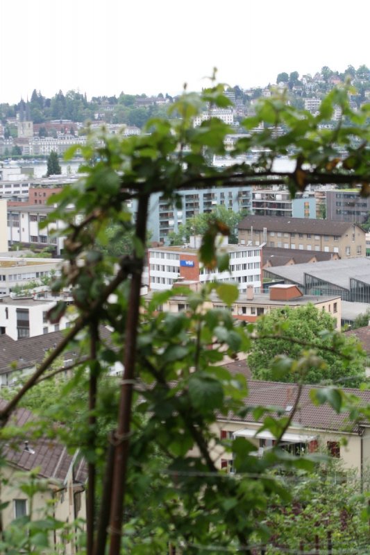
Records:
[[[315,264],[276,266],[267,268],[266,271],[274,274],[277,278],[289,280],[301,286],[304,285],[305,273],[348,291],[351,278],[370,285],[370,258],[367,257],[327,260],[315,262]]]

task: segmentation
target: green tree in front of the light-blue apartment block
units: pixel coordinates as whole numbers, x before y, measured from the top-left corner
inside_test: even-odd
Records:
[[[230,230],[228,242],[237,244],[237,225],[248,214],[246,210],[233,212],[224,205],[215,207],[212,212],[196,214],[188,218],[186,223],[178,226],[178,232],[169,232],[169,243],[171,245],[183,245],[188,243],[191,235],[203,235],[208,229],[209,223],[214,220],[224,223]]]

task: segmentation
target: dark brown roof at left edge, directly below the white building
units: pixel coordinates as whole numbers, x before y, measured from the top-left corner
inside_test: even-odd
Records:
[[[106,327],[99,330],[103,339],[110,337],[110,331]],[[15,341],[8,335],[0,336],[0,375],[8,372],[10,365],[17,362],[17,369],[30,368],[39,364],[45,357],[45,353],[56,347],[61,339],[65,336],[65,332],[51,332],[49,334],[36,335],[25,339]],[[64,357],[73,356],[71,350],[65,350]]]

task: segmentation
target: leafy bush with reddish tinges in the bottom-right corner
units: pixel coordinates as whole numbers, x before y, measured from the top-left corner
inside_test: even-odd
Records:
[[[358,475],[330,461],[326,468],[314,474],[297,472],[285,479],[292,500],[282,503],[276,497],[264,514],[271,530],[267,555],[276,555],[283,549],[298,553],[301,544],[305,552],[313,553],[317,541],[319,552],[325,552],[328,532],[331,532],[333,555],[362,553],[361,549],[367,548],[369,524],[362,518],[367,495]]]

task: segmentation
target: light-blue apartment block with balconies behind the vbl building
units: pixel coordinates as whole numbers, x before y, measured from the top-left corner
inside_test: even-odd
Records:
[[[215,187],[214,189],[187,189],[179,191],[182,206],[176,207],[160,194],[151,196],[149,208],[149,230],[152,241],[164,243],[169,232],[178,231],[178,226],[197,214],[212,212],[218,205],[233,212],[251,210],[251,187]],[[133,211],[136,204],[132,205]]]

